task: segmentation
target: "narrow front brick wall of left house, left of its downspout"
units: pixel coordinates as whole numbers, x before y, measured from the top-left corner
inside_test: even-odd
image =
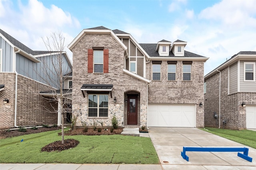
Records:
[[[0,92],[0,129],[9,129],[14,126],[15,74],[0,72],[0,84],[4,84]],[[4,104],[4,98],[8,98],[8,104]]]

